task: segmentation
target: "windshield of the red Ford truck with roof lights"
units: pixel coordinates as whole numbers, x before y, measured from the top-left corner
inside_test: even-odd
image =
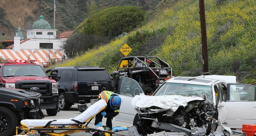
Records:
[[[2,77],[10,76],[44,76],[47,77],[43,68],[39,65],[21,64],[5,65],[2,71]]]

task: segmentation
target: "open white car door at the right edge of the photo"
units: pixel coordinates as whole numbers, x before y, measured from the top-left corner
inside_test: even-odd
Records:
[[[227,84],[228,110],[225,121],[230,128],[242,128],[242,124],[256,124],[256,87],[250,84]]]

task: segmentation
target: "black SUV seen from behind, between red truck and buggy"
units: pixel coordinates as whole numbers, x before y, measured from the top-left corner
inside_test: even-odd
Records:
[[[55,67],[48,72],[48,77],[58,82],[62,110],[68,110],[74,103],[91,103],[103,90],[113,91],[111,76],[100,66]]]

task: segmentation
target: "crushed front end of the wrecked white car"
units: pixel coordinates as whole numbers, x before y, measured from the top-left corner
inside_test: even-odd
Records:
[[[204,136],[215,130],[215,107],[201,97],[181,95],[135,96],[132,104],[138,116],[136,126],[129,128],[134,135],[165,132],[171,135]]]

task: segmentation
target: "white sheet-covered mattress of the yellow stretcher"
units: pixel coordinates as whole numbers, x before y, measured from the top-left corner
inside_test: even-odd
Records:
[[[94,103],[93,105],[91,105],[88,109],[86,109],[83,113],[79,114],[78,116],[70,119],[59,119],[55,122],[52,122],[51,124],[77,124],[76,122],[72,121],[72,119],[77,120],[79,122],[85,122],[89,120],[90,117],[99,113],[99,111],[105,106],[107,106],[106,101],[101,99],[96,103]],[[43,127],[49,121],[52,121],[52,120],[21,120],[21,123],[26,125],[28,128],[34,128],[34,127]],[[54,126],[61,126],[61,125],[54,125]]]

